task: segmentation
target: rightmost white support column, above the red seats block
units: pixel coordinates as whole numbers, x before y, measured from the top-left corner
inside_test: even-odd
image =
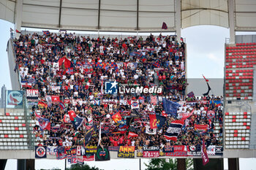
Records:
[[[234,0],[228,0],[228,23],[230,27],[230,44],[235,44],[235,4]]]

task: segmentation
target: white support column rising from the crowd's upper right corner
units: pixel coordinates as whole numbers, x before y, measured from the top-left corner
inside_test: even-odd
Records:
[[[176,4],[176,15],[175,15],[175,26],[178,43],[181,42],[181,0],[175,0]]]

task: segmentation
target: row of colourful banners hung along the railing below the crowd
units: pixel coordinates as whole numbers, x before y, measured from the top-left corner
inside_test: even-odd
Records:
[[[158,157],[180,157],[180,156],[201,156],[222,155],[223,147],[210,145],[207,148],[202,146],[174,145],[160,147],[138,147],[136,157],[158,158]],[[47,155],[56,155],[57,160],[67,159],[68,163],[83,163],[84,161],[109,161],[110,151],[116,152],[117,158],[135,158],[134,146],[120,147],[35,147],[35,158],[47,158]],[[207,154],[206,154],[207,153]],[[203,156],[202,156],[203,157]]]

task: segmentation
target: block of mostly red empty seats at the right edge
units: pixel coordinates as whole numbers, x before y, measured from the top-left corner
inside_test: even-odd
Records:
[[[226,46],[225,96],[227,100],[249,99],[253,93],[253,67],[256,64],[256,43]]]

